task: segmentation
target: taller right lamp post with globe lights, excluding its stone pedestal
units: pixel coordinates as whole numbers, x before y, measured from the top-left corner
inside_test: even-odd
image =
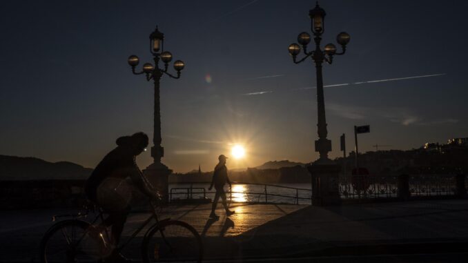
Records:
[[[333,62],[333,56],[343,55],[346,51],[346,45],[349,42],[349,35],[347,32],[341,32],[336,38],[340,46],[342,47],[342,52],[337,53],[336,47],[333,43],[328,43],[324,47],[324,50],[320,48],[320,42],[322,41],[322,34],[325,31],[324,27],[324,18],[325,10],[320,8],[317,5],[313,10],[309,11],[309,16],[311,17],[311,28],[314,35],[313,40],[315,41],[315,50],[307,52],[307,44],[311,42],[311,36],[307,32],[302,32],[298,35],[298,42],[304,50],[305,57],[298,60],[297,56],[301,52],[301,46],[297,43],[292,43],[289,45],[288,50],[289,54],[293,57],[295,64],[299,64],[302,61],[305,61],[308,57],[315,62],[315,71],[317,75],[317,100],[318,100],[318,137],[319,139],[315,141],[315,151],[320,153],[320,162],[329,161],[328,153],[331,151],[331,141],[326,139],[326,119],[325,119],[325,104],[324,104],[324,92],[323,92],[323,80],[322,80],[322,63],[326,61],[328,64]]]

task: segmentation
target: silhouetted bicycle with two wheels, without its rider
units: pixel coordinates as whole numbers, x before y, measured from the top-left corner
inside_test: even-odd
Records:
[[[166,218],[159,220],[155,202],[150,202],[151,215],[122,245],[113,248],[108,242],[109,233],[105,228],[102,231],[96,223],[104,221],[103,211],[94,204],[85,206],[84,213],[55,215],[52,220],[59,217],[72,217],[52,225],[40,243],[40,261],[42,263],[52,262],[106,262],[104,257],[109,255],[113,249],[122,251],[138,233],[140,233],[150,222],[155,220],[146,231],[141,247],[142,260],[149,262],[191,261],[202,262],[203,245],[198,232],[186,222],[170,220]],[[91,222],[82,220],[90,213],[98,211],[97,216]],[[104,233],[103,233],[104,232]]]

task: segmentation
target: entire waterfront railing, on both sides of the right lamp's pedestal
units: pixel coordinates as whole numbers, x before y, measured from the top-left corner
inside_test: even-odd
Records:
[[[401,175],[340,177],[338,194],[347,199],[410,199],[421,197],[465,197],[468,180],[464,171],[457,168],[406,168]],[[237,188],[240,186],[242,188]],[[247,186],[247,187],[245,187]],[[236,190],[237,189],[237,190]],[[180,187],[170,189],[170,202],[181,199],[206,200],[215,191],[202,187]],[[233,189],[226,191],[230,202],[310,204],[311,189],[233,182]]]

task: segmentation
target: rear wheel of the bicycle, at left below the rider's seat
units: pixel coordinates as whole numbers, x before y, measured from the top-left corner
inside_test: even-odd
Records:
[[[88,222],[64,220],[54,224],[42,237],[42,263],[101,262],[104,240]]]

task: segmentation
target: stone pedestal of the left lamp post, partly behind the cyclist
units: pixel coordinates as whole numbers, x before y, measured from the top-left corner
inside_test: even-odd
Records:
[[[159,191],[162,202],[169,202],[169,175],[172,171],[164,164],[153,163],[143,171],[144,176]]]

